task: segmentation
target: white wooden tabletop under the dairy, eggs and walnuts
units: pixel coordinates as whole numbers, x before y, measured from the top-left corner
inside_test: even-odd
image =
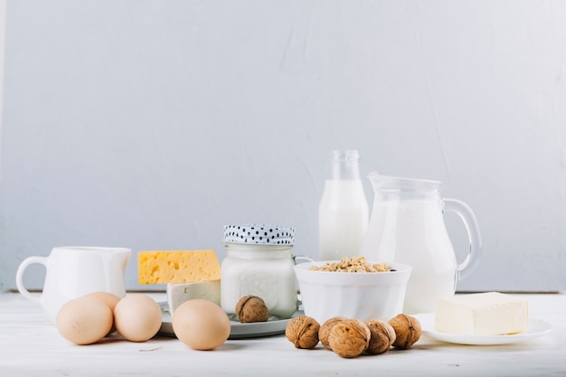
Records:
[[[156,301],[164,293],[151,293]],[[409,350],[344,359],[318,344],[296,349],[285,335],[228,340],[194,351],[174,337],[132,343],[119,335],[75,345],[39,306],[0,293],[0,376],[552,376],[566,375],[566,295],[517,295],[547,335],[506,345],[447,344],[421,337]]]

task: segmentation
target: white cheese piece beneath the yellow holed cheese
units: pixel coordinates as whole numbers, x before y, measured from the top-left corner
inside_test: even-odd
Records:
[[[220,280],[167,284],[167,304],[171,316],[178,306],[193,298],[203,298],[220,306]]]

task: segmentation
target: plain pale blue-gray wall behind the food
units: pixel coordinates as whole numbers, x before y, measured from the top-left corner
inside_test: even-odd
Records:
[[[565,24],[559,0],[7,0],[0,287],[98,245],[133,250],[138,289],[137,251],[222,259],[238,222],[293,226],[316,258],[347,147],[474,209],[484,258],[458,290],[565,289]]]

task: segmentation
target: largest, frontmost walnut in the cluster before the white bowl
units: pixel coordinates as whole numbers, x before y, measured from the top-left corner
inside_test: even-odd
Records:
[[[328,344],[338,356],[353,358],[367,349],[371,335],[370,329],[362,321],[346,319],[332,326]]]

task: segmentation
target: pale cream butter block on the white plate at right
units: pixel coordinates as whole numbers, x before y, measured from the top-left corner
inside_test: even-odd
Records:
[[[439,300],[434,328],[442,333],[504,335],[523,332],[528,322],[527,300],[486,292]]]

